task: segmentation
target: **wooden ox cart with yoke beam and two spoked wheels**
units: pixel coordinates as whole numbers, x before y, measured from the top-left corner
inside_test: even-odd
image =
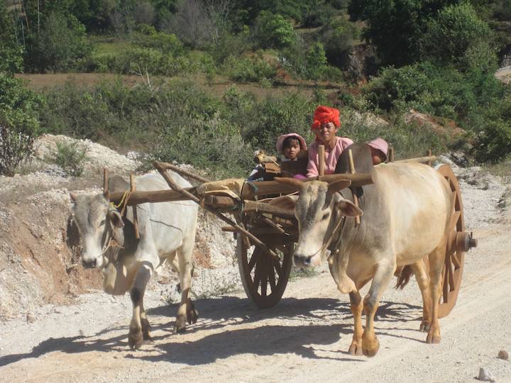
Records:
[[[350,153],[351,155],[351,153]],[[264,156],[264,155],[263,155]],[[425,157],[396,162],[417,161],[431,165],[436,157],[431,152]],[[303,172],[303,161],[285,165],[282,169],[275,167],[273,159],[259,158],[260,162],[268,163],[268,172],[281,177]],[[393,161],[393,152],[389,160]],[[236,255],[241,280],[247,296],[259,307],[268,308],[278,303],[285,292],[292,268],[292,253],[298,240],[297,219],[293,209],[286,206],[286,197],[294,190],[287,184],[275,180],[246,182],[240,179],[226,179],[209,182],[175,165],[155,162],[155,168],[165,178],[170,190],[136,191],[134,177],[131,177],[131,189],[126,192],[109,194],[108,172],[104,171],[104,193],[110,201],[119,206],[135,206],[145,202],[192,200],[204,209],[214,213],[227,223],[224,231],[233,232],[236,236]],[[320,174],[322,166],[320,164]],[[446,179],[451,188],[453,209],[450,217],[450,236],[446,245],[445,266],[442,274],[442,293],[439,317],[449,314],[456,304],[461,285],[465,252],[477,245],[471,233],[465,230],[463,219],[463,202],[458,180],[449,165],[438,165],[435,168]],[[182,189],[175,184],[167,170],[192,177],[201,184],[197,187]],[[309,180],[335,182],[340,179],[351,181],[351,187],[362,187],[373,183],[370,172],[357,173],[351,161],[351,172],[346,174],[329,174]],[[226,216],[231,214],[234,218]],[[427,263],[427,262],[426,262]]]

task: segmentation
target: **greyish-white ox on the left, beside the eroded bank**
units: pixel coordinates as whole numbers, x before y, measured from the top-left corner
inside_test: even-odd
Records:
[[[169,172],[180,187],[191,185]],[[121,177],[112,177],[110,191],[125,191],[129,185]],[[137,191],[168,189],[160,174],[136,177]],[[70,194],[73,218],[82,238],[84,267],[97,267],[104,274],[104,291],[109,294],[130,292],[133,316],[128,343],[140,348],[150,339],[149,322],[143,308],[143,295],[153,270],[165,260],[177,264],[180,273],[181,303],[177,309],[174,331],[184,331],[186,322],[197,321],[197,311],[189,299],[192,281],[192,251],[197,227],[197,205],[192,201],[160,202],[137,206],[140,239],[133,228],[133,209],[126,217],[102,195]]]

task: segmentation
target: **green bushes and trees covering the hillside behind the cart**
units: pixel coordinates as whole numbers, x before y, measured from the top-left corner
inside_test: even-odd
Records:
[[[510,0],[0,1],[0,174],[55,133],[243,175],[278,135],[312,140],[320,103],[341,109],[341,135],[399,156],[501,162],[511,92],[494,73],[510,25]],[[15,76],[82,72],[109,77],[31,89]]]

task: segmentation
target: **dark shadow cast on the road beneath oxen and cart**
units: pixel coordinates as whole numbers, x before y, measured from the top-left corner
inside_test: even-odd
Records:
[[[160,319],[156,326],[152,326],[152,330],[163,331],[165,334],[154,337],[153,343],[143,345],[141,350],[133,351],[133,353],[125,354],[128,351],[126,324],[123,327],[126,333],[122,335],[117,335],[122,328],[116,327],[106,328],[92,336],[49,338],[35,346],[31,353],[0,357],[0,366],[26,358],[40,357],[54,351],[62,353],[117,352],[125,354],[124,357],[139,360],[178,362],[187,365],[207,364],[243,353],[255,355],[296,353],[311,359],[364,360],[346,357],[351,355],[346,355],[341,350],[335,353],[329,352],[328,356],[318,356],[317,349],[312,347],[312,345],[333,345],[339,341],[341,334],[351,338],[353,323],[349,304],[338,299],[287,298],[282,299],[277,306],[265,310],[257,309],[248,299],[236,296],[197,301],[196,305],[200,320],[194,326],[189,326],[184,335],[175,335],[171,331],[175,306],[160,306],[148,310],[149,319],[158,316],[172,319],[168,323],[162,323]],[[382,302],[378,310],[378,321],[414,321],[421,309],[407,304]],[[254,328],[233,328],[272,318],[280,319],[283,324],[268,325],[262,322],[260,326]],[[201,331],[216,328],[225,328],[225,331],[212,334],[209,332],[203,338],[197,338]],[[193,340],[187,340],[189,334],[193,334]],[[174,337],[179,338],[176,341]]]

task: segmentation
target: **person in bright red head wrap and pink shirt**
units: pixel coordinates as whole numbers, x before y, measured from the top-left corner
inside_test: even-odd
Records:
[[[325,148],[325,174],[332,174],[337,165],[339,155],[346,147],[353,143],[346,137],[337,137],[336,133],[341,126],[339,110],[329,106],[318,106],[314,111],[312,131],[316,133],[316,140],[309,147],[309,163],[307,164],[307,177],[319,175],[318,145]]]

